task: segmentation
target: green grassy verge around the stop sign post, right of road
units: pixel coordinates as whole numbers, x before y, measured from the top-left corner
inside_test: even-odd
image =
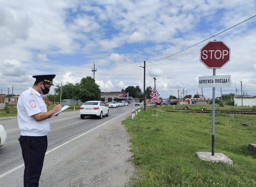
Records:
[[[233,166],[202,161],[198,151],[212,151],[212,115],[141,110],[122,123],[131,134],[138,179],[132,186],[256,186],[256,158],[247,146],[256,143],[255,116],[216,113],[215,153]],[[241,123],[249,124],[243,126]]]

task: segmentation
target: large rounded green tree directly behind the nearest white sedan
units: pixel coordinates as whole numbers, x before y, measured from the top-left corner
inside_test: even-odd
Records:
[[[79,95],[82,102],[85,101],[98,101],[100,98],[100,86],[95,83],[95,80],[87,76],[80,81]]]

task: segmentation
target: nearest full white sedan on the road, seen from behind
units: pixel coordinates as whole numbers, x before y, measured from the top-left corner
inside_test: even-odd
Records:
[[[97,116],[101,119],[103,115],[108,116],[109,110],[107,105],[102,101],[86,101],[80,107],[81,119],[84,119],[85,116]]]

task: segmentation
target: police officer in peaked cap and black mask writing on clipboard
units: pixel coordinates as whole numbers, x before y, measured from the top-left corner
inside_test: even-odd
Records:
[[[61,105],[56,105],[47,112],[43,100],[43,95],[49,93],[55,76],[34,75],[34,85],[20,94],[17,103],[19,141],[25,164],[24,187],[39,185],[47,149],[47,134],[50,131],[49,117],[61,110]]]

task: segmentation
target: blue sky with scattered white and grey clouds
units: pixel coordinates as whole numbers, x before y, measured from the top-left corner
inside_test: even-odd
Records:
[[[202,92],[198,77],[213,74],[200,49],[217,40],[231,49],[230,62],[216,69],[231,75],[222,94],[241,94],[242,81],[244,94],[256,95],[255,15],[256,0],[0,0],[0,89],[20,94],[40,74],[56,74],[55,85],[79,83],[95,63],[101,91],[143,90],[146,61],[146,87],[155,77],[160,97],[183,88],[194,96]],[[203,94],[212,98],[212,88]]]

